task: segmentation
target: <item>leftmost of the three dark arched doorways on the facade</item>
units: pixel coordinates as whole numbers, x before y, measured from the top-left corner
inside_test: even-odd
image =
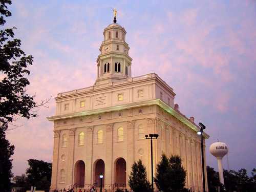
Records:
[[[83,187],[84,186],[84,172],[86,170],[86,165],[82,160],[79,160],[75,164],[75,179],[74,184],[77,185],[77,187]]]

